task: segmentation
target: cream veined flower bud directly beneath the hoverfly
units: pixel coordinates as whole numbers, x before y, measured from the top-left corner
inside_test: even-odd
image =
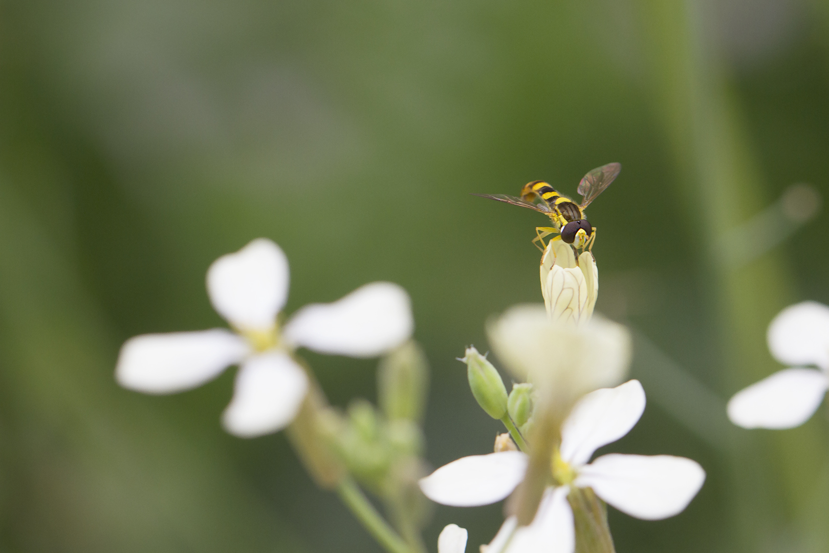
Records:
[[[573,247],[550,240],[541,256],[541,293],[550,318],[584,323],[593,315],[599,296],[599,269],[589,251],[576,260]]]

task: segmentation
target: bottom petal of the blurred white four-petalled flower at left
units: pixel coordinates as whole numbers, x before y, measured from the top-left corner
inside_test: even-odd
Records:
[[[252,438],[287,426],[308,390],[308,376],[283,352],[250,357],[236,374],[233,400],[222,415],[230,434]]]

